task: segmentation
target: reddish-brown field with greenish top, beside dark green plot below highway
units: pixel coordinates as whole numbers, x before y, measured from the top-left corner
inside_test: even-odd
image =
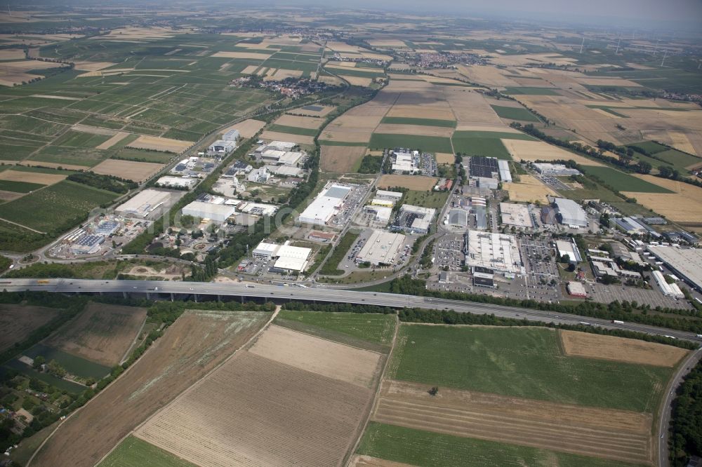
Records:
[[[144,308],[91,302],[44,344],[111,367],[121,363],[145,319]]]

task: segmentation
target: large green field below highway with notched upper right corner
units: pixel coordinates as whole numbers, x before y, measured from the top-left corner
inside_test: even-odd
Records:
[[[401,325],[388,377],[520,398],[656,410],[671,368],[567,357],[534,327]]]

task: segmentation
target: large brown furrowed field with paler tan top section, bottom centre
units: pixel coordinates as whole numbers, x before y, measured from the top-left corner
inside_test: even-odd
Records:
[[[202,467],[340,466],[372,403],[381,361],[272,325],[135,435]]]

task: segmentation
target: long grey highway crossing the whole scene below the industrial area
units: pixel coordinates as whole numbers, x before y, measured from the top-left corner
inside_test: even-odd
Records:
[[[58,293],[127,293],[148,294],[156,298],[156,294],[173,294],[182,296],[199,295],[220,297],[258,297],[265,299],[308,300],[314,302],[369,304],[392,306],[395,308],[450,309],[458,313],[494,314],[501,318],[527,319],[544,323],[577,325],[589,323],[608,329],[623,329],[644,332],[659,336],[671,336],[676,339],[687,339],[702,344],[702,339],[692,332],[669,330],[663,327],[641,325],[637,323],[613,324],[608,320],[515,308],[511,306],[465,302],[431,297],[416,297],[414,295],[399,295],[383,292],[359,292],[357,290],[338,290],[321,287],[282,287],[278,285],[251,285],[246,283],[201,283],[160,280],[84,280],[84,279],[0,279],[0,288],[8,292],[24,290],[43,290]],[[165,298],[166,296],[164,296]]]

